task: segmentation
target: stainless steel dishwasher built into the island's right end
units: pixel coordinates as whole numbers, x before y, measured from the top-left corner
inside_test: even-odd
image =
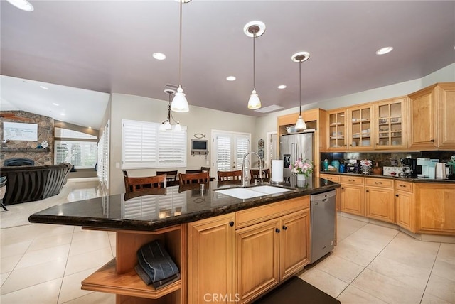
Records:
[[[310,195],[310,264],[333,250],[336,217],[335,190]]]

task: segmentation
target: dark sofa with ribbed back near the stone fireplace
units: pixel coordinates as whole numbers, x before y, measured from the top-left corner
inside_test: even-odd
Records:
[[[4,205],[43,200],[58,195],[68,180],[73,165],[23,165],[3,167],[0,176],[6,177]]]

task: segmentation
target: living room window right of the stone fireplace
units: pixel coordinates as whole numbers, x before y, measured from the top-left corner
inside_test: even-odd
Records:
[[[97,163],[97,136],[55,128],[54,163],[70,163],[76,169],[94,169]]]

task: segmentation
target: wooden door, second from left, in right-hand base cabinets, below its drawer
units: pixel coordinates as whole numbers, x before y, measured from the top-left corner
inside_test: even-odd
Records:
[[[395,222],[395,200],[393,188],[365,186],[366,217],[385,222]]]

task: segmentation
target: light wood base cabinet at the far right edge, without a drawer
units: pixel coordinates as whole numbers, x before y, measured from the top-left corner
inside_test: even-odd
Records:
[[[455,235],[455,187],[417,183],[417,233]]]

